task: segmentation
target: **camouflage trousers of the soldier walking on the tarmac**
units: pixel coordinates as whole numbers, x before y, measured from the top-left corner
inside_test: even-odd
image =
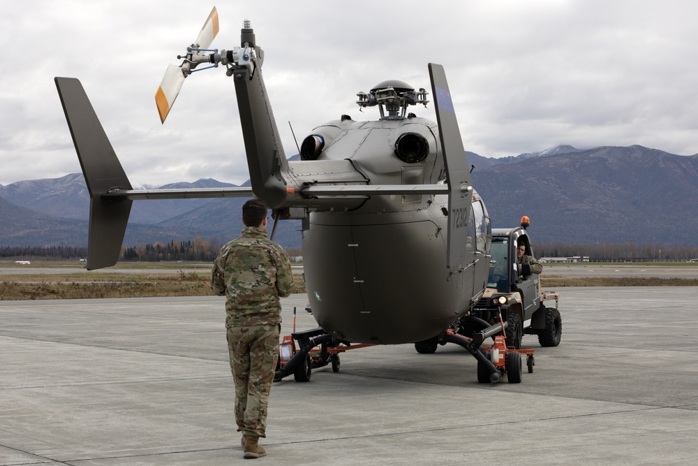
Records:
[[[279,358],[280,327],[228,327],[235,421],[242,435],[267,437],[267,405]]]

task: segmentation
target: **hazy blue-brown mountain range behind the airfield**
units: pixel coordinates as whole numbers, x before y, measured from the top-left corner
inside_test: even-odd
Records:
[[[530,218],[540,242],[695,245],[698,154],[639,145],[577,150],[569,145],[493,159],[466,152],[473,185],[495,228]],[[234,187],[213,179],[160,188]],[[244,198],[135,201],[126,245],[216,238],[242,229]],[[0,186],[0,246],[84,246],[89,195],[82,174]],[[301,245],[299,221],[281,221],[276,240]]]

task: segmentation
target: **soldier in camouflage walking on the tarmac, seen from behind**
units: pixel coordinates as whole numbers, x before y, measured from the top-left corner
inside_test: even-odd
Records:
[[[288,256],[267,239],[267,209],[258,199],[242,206],[242,235],[221,248],[211,271],[214,293],[226,297],[235,421],[244,458],[267,454],[258,440],[267,437],[267,403],[279,357],[279,297],[290,295],[293,285]]]

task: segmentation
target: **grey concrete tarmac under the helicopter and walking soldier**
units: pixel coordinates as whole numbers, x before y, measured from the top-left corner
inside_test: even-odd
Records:
[[[274,383],[267,456],[289,465],[693,465],[698,287],[562,288],[559,347],[478,384],[454,345],[341,355]],[[283,299],[282,334],[314,328]],[[0,465],[230,465],[223,298],[0,301]]]

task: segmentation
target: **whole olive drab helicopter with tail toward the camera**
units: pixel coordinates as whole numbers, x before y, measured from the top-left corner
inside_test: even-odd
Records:
[[[178,57],[181,65],[168,67],[156,103],[164,124],[194,68],[225,69],[235,83],[251,189],[134,190],[80,81],[55,78],[91,198],[87,268],[117,262],[133,200],[255,196],[273,210],[272,237],[280,219],[302,220],[309,307],[320,326],[278,375],[297,374],[293,367],[307,365],[308,351],[320,344],[438,337],[466,347],[478,367],[499,379],[503,370],[479,347],[506,323],[483,324],[472,339],[452,331],[487,284],[491,227],[473,189],[443,67],[429,64],[438,126],[408,112],[426,106],[428,92],[385,81],[357,94],[359,108],[378,107],[379,119],[341,115],[315,128],[302,142],[301,159],[288,161],[253,29],[246,21],[239,47],[210,50],[217,32],[214,8]]]

